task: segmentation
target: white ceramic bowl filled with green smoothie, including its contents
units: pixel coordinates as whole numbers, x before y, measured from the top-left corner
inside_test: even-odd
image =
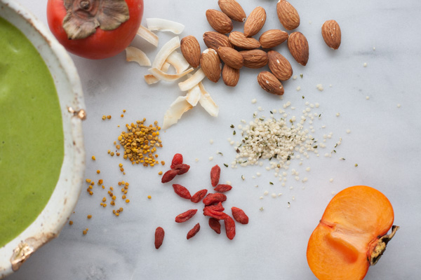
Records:
[[[0,0],[0,279],[57,237],[85,169],[72,59],[15,0]]]

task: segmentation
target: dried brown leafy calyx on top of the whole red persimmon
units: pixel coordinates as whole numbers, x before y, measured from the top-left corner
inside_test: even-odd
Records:
[[[64,0],[63,29],[70,40],[83,39],[102,30],[114,30],[129,18],[125,0]]]

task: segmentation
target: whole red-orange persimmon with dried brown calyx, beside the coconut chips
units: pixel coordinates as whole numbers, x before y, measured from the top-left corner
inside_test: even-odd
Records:
[[[74,55],[103,59],[133,41],[143,15],[143,0],[48,0],[48,26]]]

